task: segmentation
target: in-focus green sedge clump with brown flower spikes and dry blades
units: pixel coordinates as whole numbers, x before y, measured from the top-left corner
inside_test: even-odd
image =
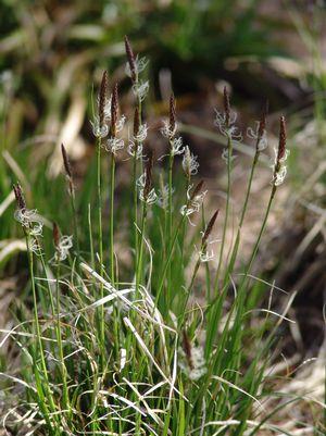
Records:
[[[173,95],[161,128],[168,153],[155,157],[150,148],[142,115],[149,89],[141,76],[147,61],[134,54],[127,38],[125,47],[135,95],[131,132],[126,139],[118,86],[110,84],[104,72],[92,120],[96,200],[76,201],[73,169],[62,146],[72,220],[53,224],[51,253],[42,244],[42,217],[28,209],[23,188],[14,185],[33,307],[17,311],[17,325],[1,342],[12,340],[20,353],[20,366],[9,364],[2,374],[2,425],[17,435],[51,436],[283,432],[274,414],[299,398],[280,398],[272,410],[264,401],[278,398],[267,370],[275,359],[278,327],[291,322],[286,317],[289,304],[280,314],[259,310],[261,288],[252,282],[251,271],[286,176],[285,119],[280,117],[261,228],[247,264],[238,266],[252,180],[267,147],[266,111],[249,129],[254,157],[236,236],[229,242],[234,144],[240,133],[227,89],[223,111],[215,117],[226,140],[227,197],[225,209],[211,213],[204,203],[204,182],[196,179],[198,158],[177,134]],[[125,164],[130,179],[117,203],[116,159],[123,152],[129,158]],[[80,223],[77,204],[86,209],[86,224]],[[73,235],[62,234],[61,226]],[[216,233],[222,235],[217,240]],[[124,267],[122,250],[130,253]]]

